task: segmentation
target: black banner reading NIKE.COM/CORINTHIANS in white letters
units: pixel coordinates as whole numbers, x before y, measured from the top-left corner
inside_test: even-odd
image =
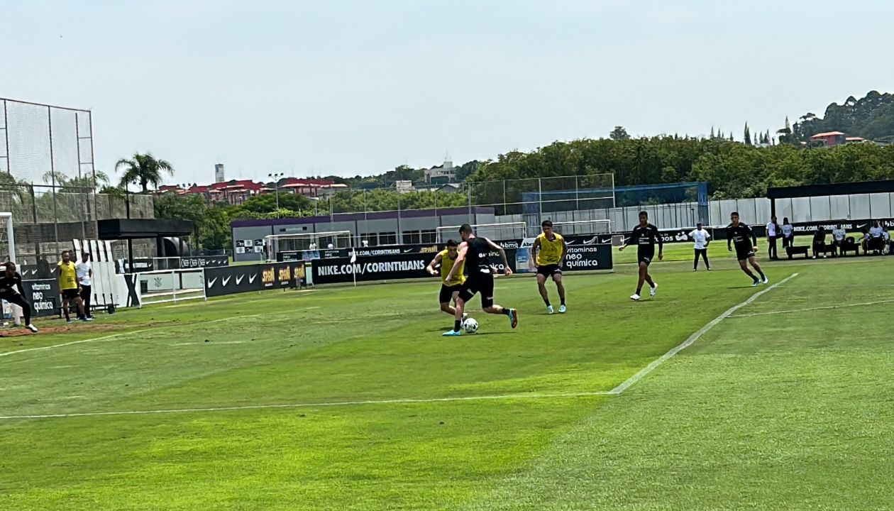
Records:
[[[430,253],[408,253],[389,257],[358,257],[354,263],[350,262],[350,258],[318,260],[313,264],[312,277],[314,285],[353,282],[354,276],[358,281],[431,277],[426,272],[426,266],[433,257]]]

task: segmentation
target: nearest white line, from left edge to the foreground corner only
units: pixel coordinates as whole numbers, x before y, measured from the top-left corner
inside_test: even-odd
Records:
[[[132,410],[129,412],[83,412],[83,413],[46,413],[42,415],[0,415],[0,421],[13,421],[15,419],[64,419],[67,417],[97,417],[102,415],[152,415],[160,413],[202,413],[202,412],[232,412],[238,410],[266,410],[270,408],[314,408],[328,406],[356,406],[356,405],[412,405],[425,403],[450,403],[457,401],[496,401],[512,399],[555,399],[561,397],[592,397],[608,396],[611,391],[601,392],[560,392],[555,394],[498,394],[493,396],[464,396],[464,397],[430,397],[430,398],[401,398],[401,399],[371,399],[369,401],[333,401],[329,403],[291,403],[285,405],[244,405],[244,406],[215,406],[212,408],[170,408],[164,410]]]

